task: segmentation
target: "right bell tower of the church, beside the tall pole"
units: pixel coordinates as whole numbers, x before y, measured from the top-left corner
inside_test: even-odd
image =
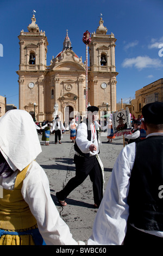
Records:
[[[90,68],[88,101],[99,111],[116,111],[116,72],[114,34],[106,34],[102,17],[89,44]],[[108,103],[108,104],[106,104]]]

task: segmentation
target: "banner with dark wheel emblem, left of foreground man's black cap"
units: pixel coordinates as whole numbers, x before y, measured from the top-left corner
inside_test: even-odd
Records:
[[[130,134],[131,128],[131,119],[128,107],[112,113],[112,129],[116,136]]]

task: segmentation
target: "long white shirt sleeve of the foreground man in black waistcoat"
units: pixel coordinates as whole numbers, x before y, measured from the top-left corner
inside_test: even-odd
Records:
[[[127,229],[127,196],[134,161],[135,143],[131,143],[122,149],[114,164],[88,245],[122,245]]]

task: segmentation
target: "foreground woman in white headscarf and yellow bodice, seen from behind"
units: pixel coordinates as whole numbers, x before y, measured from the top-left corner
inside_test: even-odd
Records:
[[[34,161],[41,146],[31,115],[8,111],[0,119],[0,245],[78,245],[60,218],[48,178]]]

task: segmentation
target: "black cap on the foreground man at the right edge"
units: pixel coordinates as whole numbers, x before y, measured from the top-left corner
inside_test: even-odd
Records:
[[[163,124],[163,102],[148,103],[142,108],[142,115],[146,123]]]

